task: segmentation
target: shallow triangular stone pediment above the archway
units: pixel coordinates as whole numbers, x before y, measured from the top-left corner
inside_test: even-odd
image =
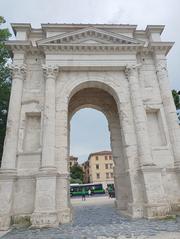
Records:
[[[84,28],[73,32],[59,34],[53,37],[39,40],[39,46],[61,44],[138,44],[144,45],[143,41],[130,38],[118,33],[104,31],[94,27]]]

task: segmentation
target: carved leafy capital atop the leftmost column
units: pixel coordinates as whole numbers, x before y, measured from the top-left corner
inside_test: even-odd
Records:
[[[8,67],[13,78],[23,79],[25,77],[25,74],[27,72],[26,64],[9,64]]]

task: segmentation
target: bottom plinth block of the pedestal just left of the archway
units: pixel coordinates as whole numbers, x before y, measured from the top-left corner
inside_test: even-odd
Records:
[[[58,227],[58,217],[56,212],[34,212],[31,216],[32,227]]]

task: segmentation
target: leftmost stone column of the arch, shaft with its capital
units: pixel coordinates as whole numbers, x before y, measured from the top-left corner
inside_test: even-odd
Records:
[[[26,65],[12,64],[9,67],[12,72],[12,87],[1,167],[4,170],[15,170],[21,99]]]

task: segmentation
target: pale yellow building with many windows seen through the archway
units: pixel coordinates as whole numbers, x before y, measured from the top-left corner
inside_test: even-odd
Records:
[[[114,184],[114,162],[111,151],[91,153],[83,163],[84,182],[102,183],[106,189],[108,184]]]

